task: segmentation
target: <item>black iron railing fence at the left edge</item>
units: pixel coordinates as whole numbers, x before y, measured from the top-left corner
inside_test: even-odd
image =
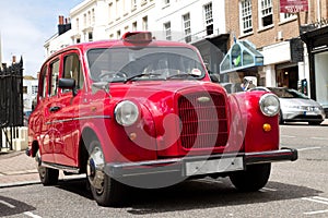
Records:
[[[13,149],[17,126],[23,125],[23,60],[0,69],[0,148]]]

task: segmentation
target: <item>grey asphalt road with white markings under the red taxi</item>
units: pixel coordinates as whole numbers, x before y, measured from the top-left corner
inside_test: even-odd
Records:
[[[295,162],[272,164],[259,192],[238,193],[229,179],[206,178],[163,190],[133,190],[129,205],[99,207],[84,180],[0,189],[0,217],[328,217],[328,126],[281,125]]]

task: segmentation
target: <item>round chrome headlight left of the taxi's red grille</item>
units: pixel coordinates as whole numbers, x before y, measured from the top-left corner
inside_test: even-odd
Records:
[[[117,104],[114,114],[117,123],[129,126],[137,122],[139,109],[132,101],[124,100]]]

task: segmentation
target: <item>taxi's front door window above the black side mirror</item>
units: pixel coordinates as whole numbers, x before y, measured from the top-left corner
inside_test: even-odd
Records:
[[[71,53],[65,57],[62,73],[62,77],[75,80],[77,89],[81,89],[83,87],[84,77],[78,53]],[[62,92],[68,90],[66,89]]]

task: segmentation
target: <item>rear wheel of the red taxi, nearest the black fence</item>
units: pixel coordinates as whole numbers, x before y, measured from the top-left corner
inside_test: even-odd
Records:
[[[58,178],[59,178],[59,170],[43,167],[42,160],[40,160],[40,155],[39,150],[37,152],[35,156],[35,160],[37,164],[37,171],[39,175],[40,182],[47,186],[47,185],[56,185],[58,183]]]

